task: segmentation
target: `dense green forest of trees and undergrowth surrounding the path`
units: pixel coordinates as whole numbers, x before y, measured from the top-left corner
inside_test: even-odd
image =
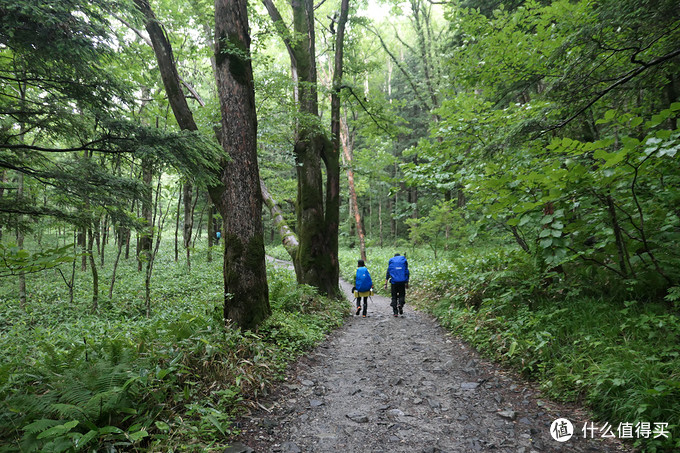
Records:
[[[680,447],[678,43],[670,0],[0,0],[0,450],[223,447],[395,251]]]

